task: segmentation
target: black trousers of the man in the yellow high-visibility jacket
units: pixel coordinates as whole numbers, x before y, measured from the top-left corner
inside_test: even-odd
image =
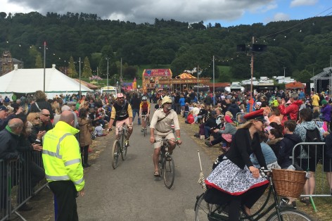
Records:
[[[49,182],[57,202],[56,221],[78,221],[75,185],[69,180]]]

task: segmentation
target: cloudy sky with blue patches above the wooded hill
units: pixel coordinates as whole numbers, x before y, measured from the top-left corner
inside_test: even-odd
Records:
[[[153,23],[155,18],[231,25],[267,24],[331,13],[332,0],[0,0],[0,11],[94,13],[103,19]],[[323,11],[328,11],[322,13]]]

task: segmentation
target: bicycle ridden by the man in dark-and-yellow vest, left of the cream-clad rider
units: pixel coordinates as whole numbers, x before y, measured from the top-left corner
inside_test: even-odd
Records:
[[[125,124],[121,127],[115,127],[118,131],[117,139],[113,142],[112,147],[112,166],[113,169],[117,168],[117,164],[119,163],[119,158],[121,154],[122,160],[125,160],[127,156],[127,144],[125,144],[126,137],[128,135],[128,129],[125,127]]]

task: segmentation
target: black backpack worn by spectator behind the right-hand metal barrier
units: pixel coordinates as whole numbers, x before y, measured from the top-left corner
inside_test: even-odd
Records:
[[[305,141],[310,143],[321,142],[321,135],[319,134],[317,127],[315,127],[314,130],[307,130],[305,134]],[[323,149],[321,149],[321,146],[316,146],[314,144],[308,146],[309,151],[307,146],[305,146],[304,149],[310,158],[314,158],[315,156],[317,157],[317,160],[322,158]]]

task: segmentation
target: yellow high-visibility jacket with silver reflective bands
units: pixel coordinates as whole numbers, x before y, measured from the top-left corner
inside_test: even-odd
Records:
[[[75,138],[79,130],[59,121],[46,132],[43,139],[43,163],[48,182],[71,180],[77,191],[84,188],[84,174],[79,143]]]

